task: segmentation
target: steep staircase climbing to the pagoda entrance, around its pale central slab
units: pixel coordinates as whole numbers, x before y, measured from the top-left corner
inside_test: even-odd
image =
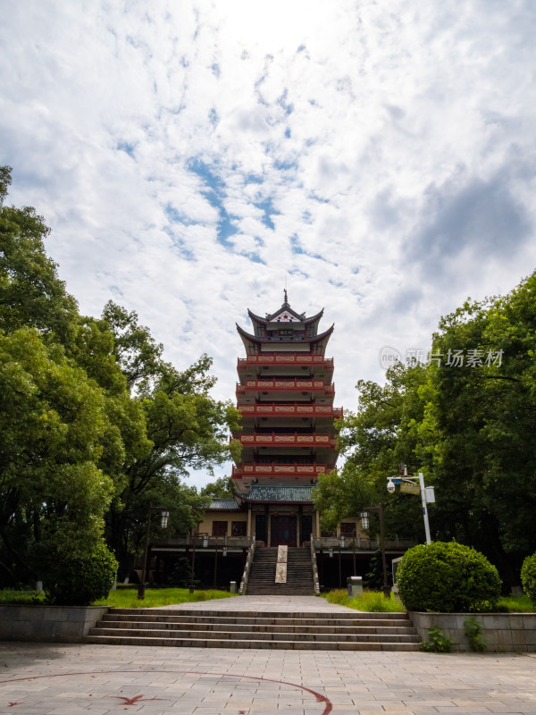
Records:
[[[287,583],[275,583],[277,547],[255,549],[247,579],[248,596],[312,596],[314,595],[313,564],[309,549],[289,547]]]

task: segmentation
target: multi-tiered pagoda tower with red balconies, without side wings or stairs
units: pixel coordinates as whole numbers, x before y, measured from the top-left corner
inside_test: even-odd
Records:
[[[239,325],[237,403],[242,461],[232,470],[237,501],[247,509],[247,535],[269,546],[301,546],[320,536],[311,492],[337,462],[333,360],[325,349],[333,326],[318,332],[322,313],[306,317],[289,306],[260,317],[253,333]]]

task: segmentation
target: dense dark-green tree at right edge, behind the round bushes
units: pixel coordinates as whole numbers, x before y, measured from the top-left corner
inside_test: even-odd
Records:
[[[426,421],[445,538],[486,553],[510,585],[536,547],[536,275],[440,322]],[[462,351],[463,365],[448,365]],[[469,359],[468,359],[469,358]]]

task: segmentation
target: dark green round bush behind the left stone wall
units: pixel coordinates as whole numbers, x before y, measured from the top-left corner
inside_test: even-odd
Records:
[[[56,606],[88,606],[105,598],[113,586],[117,560],[105,543],[81,557],[59,557],[46,568],[46,601]]]

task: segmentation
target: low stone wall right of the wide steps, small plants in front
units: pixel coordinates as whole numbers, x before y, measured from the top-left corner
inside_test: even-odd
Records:
[[[428,629],[437,626],[454,642],[453,651],[471,651],[464,628],[471,616],[482,626],[486,652],[536,652],[536,613],[409,613],[423,641],[429,640]]]

